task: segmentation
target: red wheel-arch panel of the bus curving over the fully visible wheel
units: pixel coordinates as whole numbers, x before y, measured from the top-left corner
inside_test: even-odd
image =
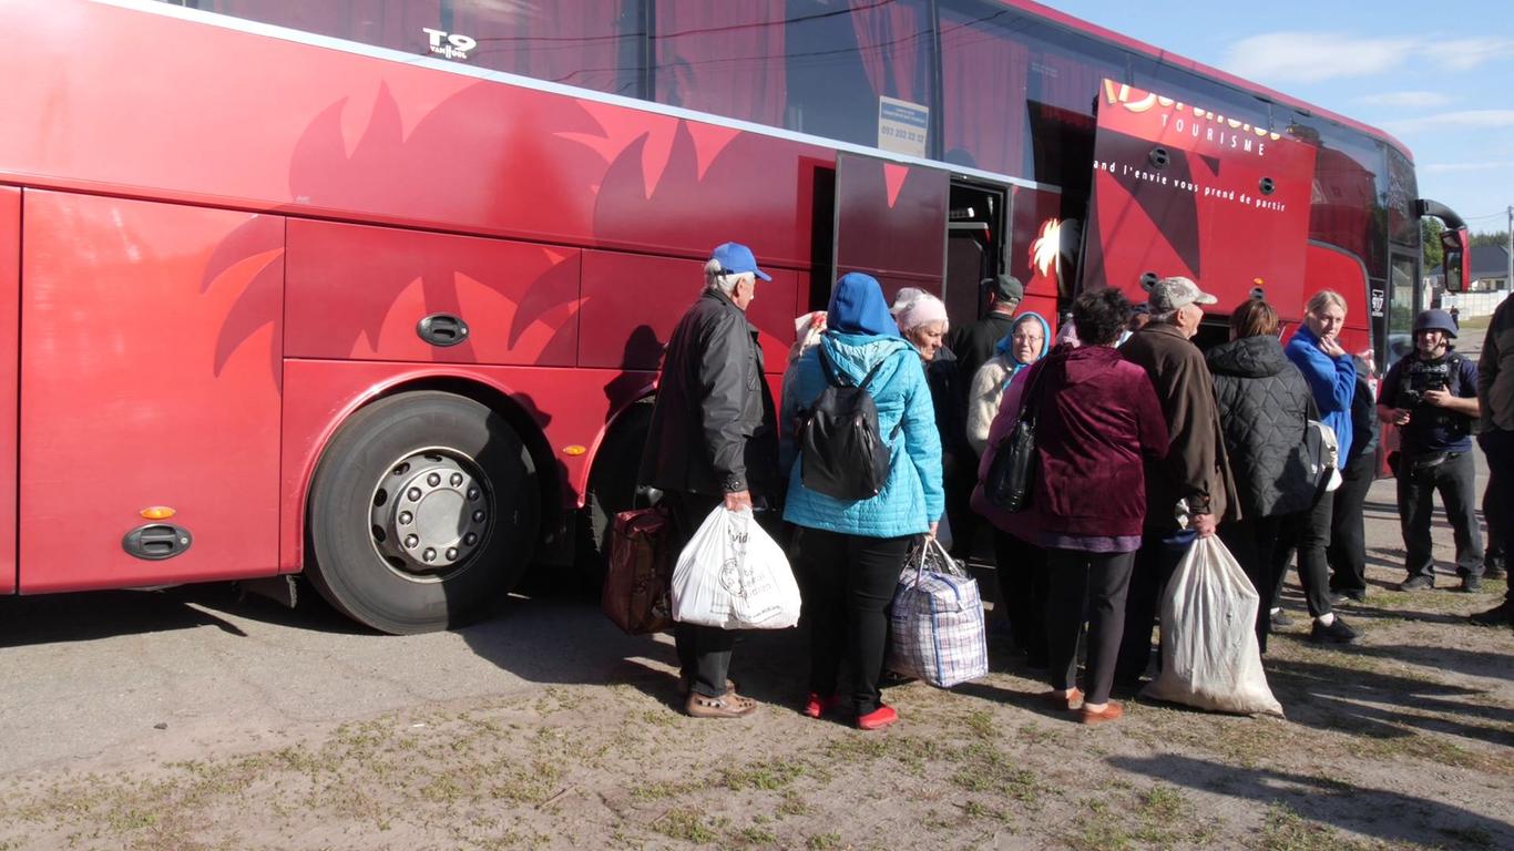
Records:
[[[492,388],[513,400],[547,435],[556,474],[566,486],[562,506],[577,507],[589,475],[589,456],[568,447],[593,447],[616,410],[612,386],[625,373],[544,366],[392,363],[386,360],[288,360],[279,539],[280,572],[297,572],[304,557],[306,497],[321,453],[347,418],[374,398],[406,385],[460,380]],[[527,435],[522,435],[527,438]]]

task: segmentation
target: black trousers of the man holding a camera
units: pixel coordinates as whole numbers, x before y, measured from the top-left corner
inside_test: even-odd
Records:
[[[1458,453],[1446,463],[1414,472],[1414,459],[1399,460],[1399,528],[1403,530],[1403,568],[1410,578],[1435,577],[1435,556],[1431,521],[1435,497],[1446,506],[1452,539],[1456,542],[1456,572],[1464,577],[1482,575],[1482,530],[1478,528],[1476,466],[1472,453]]]

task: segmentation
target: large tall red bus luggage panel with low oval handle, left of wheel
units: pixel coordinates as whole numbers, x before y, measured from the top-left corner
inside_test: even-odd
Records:
[[[276,572],[283,220],[27,191],[24,226],[21,592]],[[127,554],[148,522],[189,548]]]

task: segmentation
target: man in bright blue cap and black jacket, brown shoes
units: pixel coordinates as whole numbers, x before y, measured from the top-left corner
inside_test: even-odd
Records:
[[[777,413],[757,329],[746,321],[757,280],[772,279],[751,248],[716,247],[704,263],[704,292],[668,341],[639,478],[663,492],[675,551],[716,507],[749,510],[781,494]],[[678,624],[674,636],[684,710],[695,718],[751,715],[757,704],[725,678],[733,633]]]

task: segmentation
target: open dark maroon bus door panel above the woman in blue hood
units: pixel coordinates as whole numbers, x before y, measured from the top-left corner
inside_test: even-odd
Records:
[[[951,176],[936,168],[837,154],[831,283],[866,273],[890,303],[905,286],[954,298],[945,276],[949,188]],[[969,303],[977,288],[974,280]]]

